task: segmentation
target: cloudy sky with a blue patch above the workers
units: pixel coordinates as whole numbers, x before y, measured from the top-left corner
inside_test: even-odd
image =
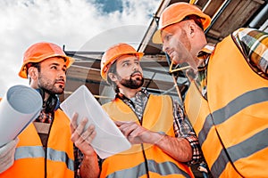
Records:
[[[105,51],[119,42],[138,44],[161,0],[1,0],[0,97],[18,76],[31,44],[52,42],[66,51]]]

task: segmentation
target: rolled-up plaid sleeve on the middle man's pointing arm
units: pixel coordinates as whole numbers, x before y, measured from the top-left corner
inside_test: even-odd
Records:
[[[182,137],[188,140],[193,150],[193,157],[190,164],[196,164],[201,161],[202,152],[192,126],[188,122],[182,107],[178,101],[173,101],[174,132],[176,137]]]

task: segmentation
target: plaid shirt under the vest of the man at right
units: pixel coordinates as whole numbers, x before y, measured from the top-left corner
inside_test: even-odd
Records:
[[[268,78],[268,34],[254,28],[239,28],[231,36],[243,53],[250,67],[255,72]],[[215,44],[206,44],[198,53],[198,75],[196,78],[200,92],[206,99],[207,63],[210,55],[214,52]]]

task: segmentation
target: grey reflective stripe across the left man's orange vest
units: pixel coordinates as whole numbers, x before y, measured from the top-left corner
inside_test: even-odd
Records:
[[[15,160],[21,158],[45,158],[45,151],[42,146],[18,147],[15,151]],[[47,159],[63,162],[68,169],[74,171],[74,161],[64,151],[47,148]]]

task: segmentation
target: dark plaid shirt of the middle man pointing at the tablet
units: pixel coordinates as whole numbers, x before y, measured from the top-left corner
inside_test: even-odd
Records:
[[[121,101],[124,101],[130,107],[130,109],[135,112],[140,120],[143,116],[143,111],[147,104],[149,95],[150,94],[147,92],[147,90],[142,89],[136,93],[135,97],[132,99],[128,99],[121,93],[117,93],[115,97],[120,98]],[[139,109],[140,107],[142,109]],[[175,136],[187,139],[192,147],[193,157],[189,163],[195,164],[200,162],[202,153],[197,140],[197,135],[195,134],[191,125],[188,123],[188,118],[185,117],[179,101],[173,101],[173,128]]]

